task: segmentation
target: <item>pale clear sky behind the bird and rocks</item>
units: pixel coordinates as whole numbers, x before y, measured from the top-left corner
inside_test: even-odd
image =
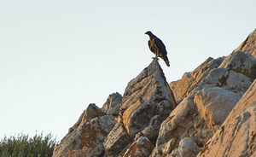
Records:
[[[58,141],[90,103],[123,95],[159,37],[168,83],[208,57],[230,55],[256,28],[255,0],[0,0],[0,139],[23,132]]]

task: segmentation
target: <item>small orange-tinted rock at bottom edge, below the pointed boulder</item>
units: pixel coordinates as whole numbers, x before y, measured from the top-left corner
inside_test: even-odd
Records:
[[[127,148],[125,154],[122,154],[122,157],[148,157],[153,148],[154,145],[149,142],[147,137],[140,137],[136,142],[133,142],[129,148]]]

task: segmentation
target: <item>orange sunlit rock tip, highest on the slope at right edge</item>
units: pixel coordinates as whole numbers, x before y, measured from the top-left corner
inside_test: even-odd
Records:
[[[233,52],[236,52],[237,50],[250,52],[254,57],[256,57],[256,29],[251,32],[245,41],[243,41]]]

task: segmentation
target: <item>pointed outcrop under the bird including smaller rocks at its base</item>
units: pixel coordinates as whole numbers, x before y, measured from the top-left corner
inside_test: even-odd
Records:
[[[119,107],[119,123],[104,142],[106,154],[151,154],[161,122],[175,107],[164,73],[159,63],[153,61],[128,83]]]

